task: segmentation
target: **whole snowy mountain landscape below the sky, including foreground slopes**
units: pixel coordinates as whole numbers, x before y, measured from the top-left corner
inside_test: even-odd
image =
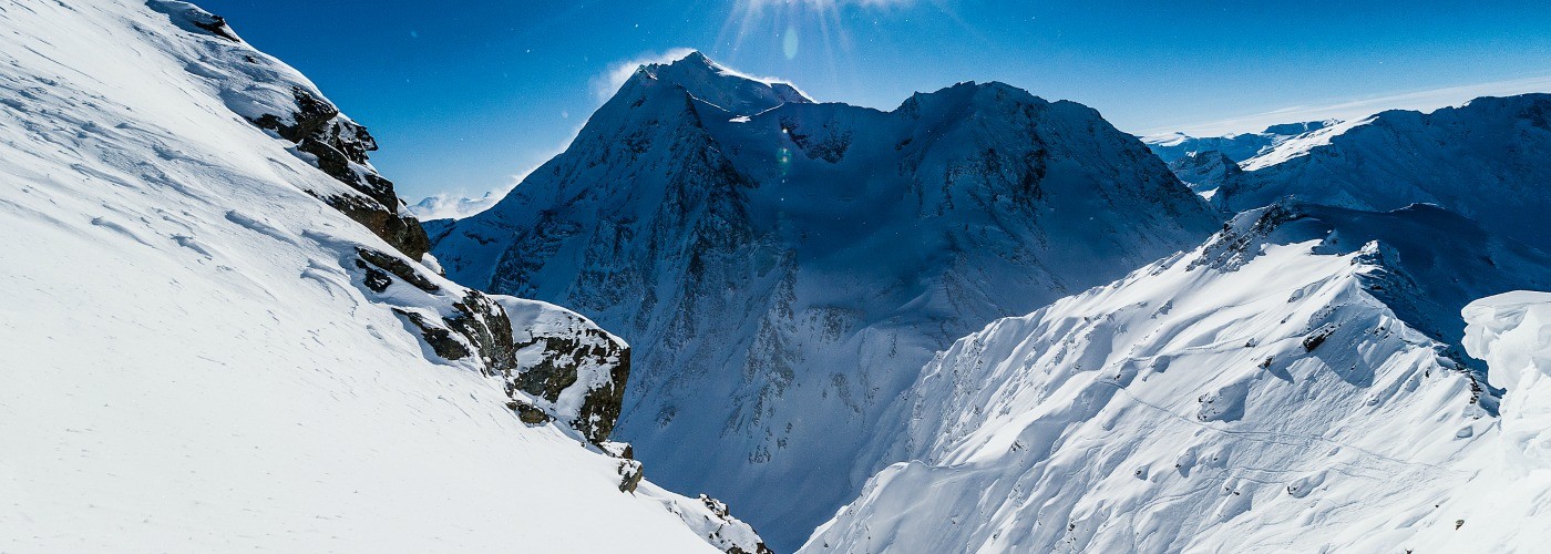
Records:
[[[0,551],[1551,545],[1551,95],[1137,138],[692,53],[409,206],[223,19],[22,0],[0,106]]]

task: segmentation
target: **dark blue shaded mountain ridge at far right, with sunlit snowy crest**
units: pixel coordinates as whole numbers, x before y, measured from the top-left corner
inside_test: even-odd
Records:
[[[1486,230],[1551,248],[1551,95],[1478,98],[1433,113],[1391,110],[1320,129],[1245,160],[1213,202],[1281,197],[1388,211],[1433,203]]]

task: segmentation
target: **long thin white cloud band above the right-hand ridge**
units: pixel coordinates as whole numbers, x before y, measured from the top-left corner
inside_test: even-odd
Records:
[[[1512,96],[1534,92],[1551,92],[1551,76],[1416,90],[1326,106],[1292,106],[1280,110],[1190,124],[1179,129],[1151,129],[1146,133],[1169,133],[1177,130],[1193,137],[1218,137],[1259,132],[1278,123],[1356,119],[1383,110],[1432,112],[1439,107],[1461,106],[1480,96]]]

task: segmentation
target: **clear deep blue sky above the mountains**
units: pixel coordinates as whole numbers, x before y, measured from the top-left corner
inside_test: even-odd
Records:
[[[1005,81],[1137,133],[1551,92],[1546,2],[203,0],[378,137],[414,202],[506,189],[633,61],[696,48],[892,109]]]

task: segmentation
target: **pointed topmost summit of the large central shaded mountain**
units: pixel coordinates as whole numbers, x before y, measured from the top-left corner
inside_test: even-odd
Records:
[[[698,50],[667,64],[645,64],[634,79],[664,82],[732,115],[755,115],[782,104],[813,104],[785,81],[755,78],[717,64]]]

